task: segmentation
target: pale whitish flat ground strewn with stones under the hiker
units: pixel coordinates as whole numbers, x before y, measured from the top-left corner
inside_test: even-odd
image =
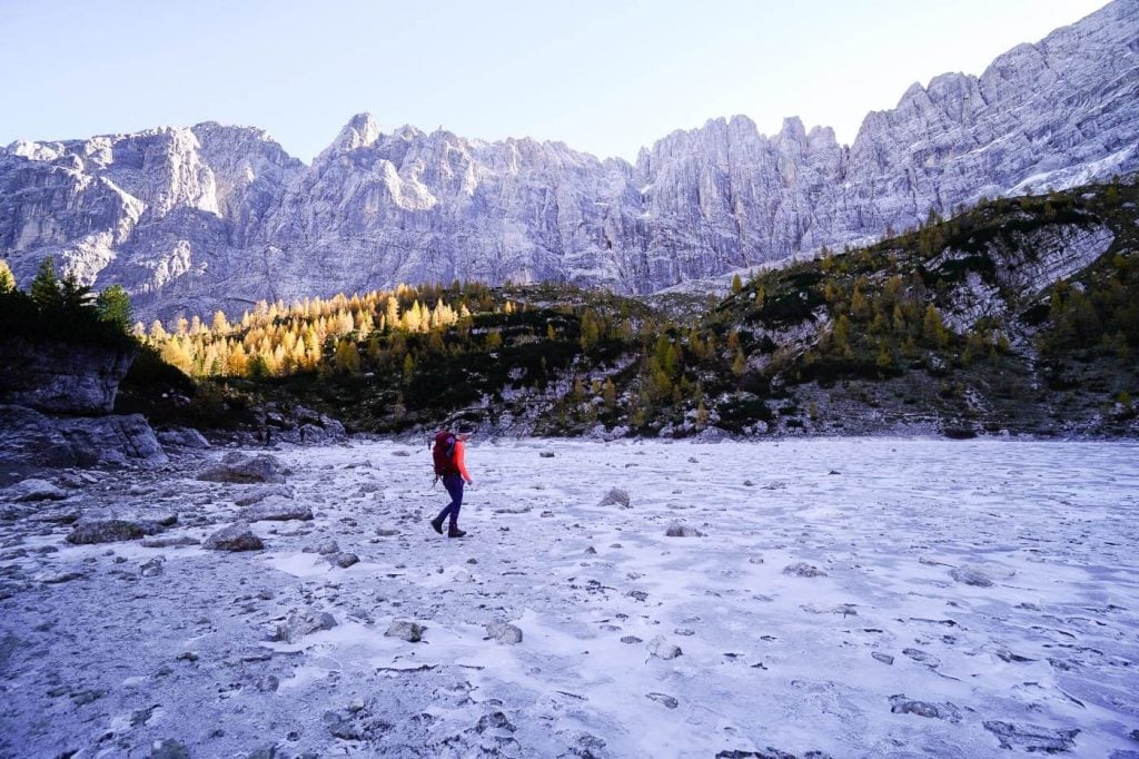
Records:
[[[106,693],[89,704],[40,694],[51,662],[83,647],[74,634],[44,635],[39,659],[11,654],[7,672],[0,661],[10,678],[0,696],[11,699],[0,751],[147,756],[163,737],[190,756],[268,745],[278,756],[432,757],[1032,748],[1002,750],[984,725],[993,721],[1076,729],[1068,756],[1139,751],[1136,443],[482,441],[467,457],[476,485],[461,540],[427,525],[446,497],[431,487],[425,444],[276,455],[317,519],[255,523],[264,552],[71,547],[56,529],[22,545],[58,553],[0,561],[90,574],[110,566],[108,547],[121,566],[166,558],[161,578],[138,583],[161,591],[130,602],[137,587],[90,578],[43,586],[34,604],[0,602],[0,638],[32,635],[54,603],[83,604],[68,620],[128,604],[132,619],[165,619],[129,651],[114,647],[120,626],[91,626],[99,654],[84,687]],[[227,523],[243,492],[177,483],[163,503],[195,537]],[[613,487],[629,491],[629,508],[598,505]],[[213,519],[195,527],[191,513]],[[704,536],[666,537],[673,522]],[[330,569],[302,553],[328,538],[361,562]],[[797,563],[825,574],[784,572]],[[954,568],[992,585],[954,580]],[[251,601],[259,588],[272,599]],[[292,610],[327,611],[337,627],[267,642]],[[385,637],[393,619],[426,626],[423,642]],[[521,628],[522,643],[487,639],[495,620]],[[681,655],[653,655],[657,638]],[[185,651],[199,660],[174,666]],[[249,651],[269,661],[240,655]],[[174,674],[155,675],[163,664]],[[254,687],[259,671],[279,687]],[[940,716],[894,712],[896,695]],[[131,727],[140,704],[157,708]],[[56,717],[35,732],[27,723],[43,709]],[[337,719],[354,737],[329,732]]]

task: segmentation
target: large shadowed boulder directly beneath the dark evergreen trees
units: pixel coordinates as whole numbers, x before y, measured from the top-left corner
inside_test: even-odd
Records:
[[[0,402],[50,414],[109,414],[133,359],[129,349],[0,340]]]

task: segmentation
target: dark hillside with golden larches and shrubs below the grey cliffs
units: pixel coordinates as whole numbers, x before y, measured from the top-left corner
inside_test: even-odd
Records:
[[[1120,181],[982,202],[737,280],[695,315],[453,283],[136,333],[219,419],[269,399],[372,432],[1134,434],[1137,203]]]

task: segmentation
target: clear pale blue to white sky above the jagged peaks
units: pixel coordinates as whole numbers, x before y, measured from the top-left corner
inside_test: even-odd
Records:
[[[632,160],[745,114],[854,139],[1104,0],[0,0],[0,145],[219,121],[310,161],[352,114]]]

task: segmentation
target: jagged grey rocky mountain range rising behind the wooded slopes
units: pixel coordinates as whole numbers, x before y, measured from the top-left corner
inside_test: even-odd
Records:
[[[144,316],[240,311],[399,281],[568,280],[655,292],[841,247],[983,196],[1139,170],[1139,0],[913,84],[851,146],[788,119],[677,131],[636,164],[560,142],[354,116],[311,165],[207,122],[0,149],[0,255],[48,255]]]

